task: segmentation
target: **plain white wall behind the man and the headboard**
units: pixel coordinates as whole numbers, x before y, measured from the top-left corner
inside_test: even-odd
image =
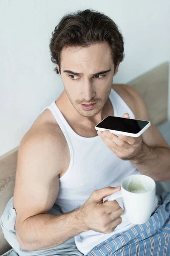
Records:
[[[125,60],[114,82],[127,83],[170,61],[169,0],[84,2],[0,1],[0,156],[20,144],[40,111],[62,93],[48,45],[66,12],[92,8],[119,25],[125,38]]]

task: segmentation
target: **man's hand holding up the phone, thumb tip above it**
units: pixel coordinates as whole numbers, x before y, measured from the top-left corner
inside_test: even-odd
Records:
[[[128,113],[123,118],[130,118]],[[132,160],[142,152],[142,137],[116,136],[108,130],[97,131],[105,144],[122,160]]]

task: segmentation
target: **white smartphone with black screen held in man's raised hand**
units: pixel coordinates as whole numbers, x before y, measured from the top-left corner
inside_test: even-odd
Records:
[[[150,127],[150,121],[107,116],[95,126],[95,129],[98,131],[108,130],[118,136],[123,134],[130,137],[139,137],[148,127]]]

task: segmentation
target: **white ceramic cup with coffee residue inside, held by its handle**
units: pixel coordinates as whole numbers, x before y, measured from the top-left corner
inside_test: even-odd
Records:
[[[122,180],[121,190],[113,193],[108,201],[122,197],[125,209],[121,216],[126,216],[133,224],[143,224],[152,214],[155,195],[156,183],[152,178],[130,175]]]

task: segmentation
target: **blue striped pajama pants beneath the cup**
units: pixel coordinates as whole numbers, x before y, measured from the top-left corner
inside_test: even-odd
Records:
[[[170,256],[170,192],[162,193],[158,204],[147,223],[111,236],[88,256]]]

